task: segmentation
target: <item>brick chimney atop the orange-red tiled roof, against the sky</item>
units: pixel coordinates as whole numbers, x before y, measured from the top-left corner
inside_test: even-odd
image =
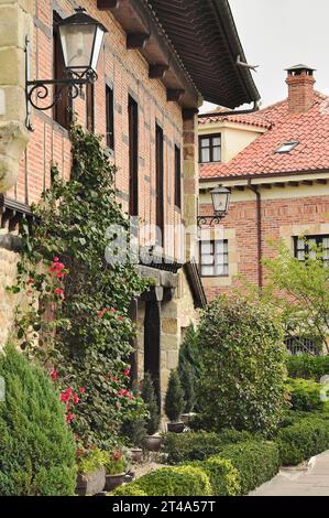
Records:
[[[314,68],[305,65],[286,68],[288,77],[288,106],[290,114],[304,114],[314,105]]]

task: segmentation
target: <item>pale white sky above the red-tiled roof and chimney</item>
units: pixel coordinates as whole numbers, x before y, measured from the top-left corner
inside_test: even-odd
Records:
[[[328,0],[230,0],[246,60],[267,106],[287,96],[287,68],[316,68],[316,89],[329,95]],[[202,111],[213,108],[206,104]]]

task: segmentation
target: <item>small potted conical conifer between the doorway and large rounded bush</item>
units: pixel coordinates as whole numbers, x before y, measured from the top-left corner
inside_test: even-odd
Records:
[[[184,432],[185,424],[180,421],[184,404],[184,391],[179,381],[178,371],[172,370],[165,399],[165,412],[171,420],[167,424],[168,432]]]

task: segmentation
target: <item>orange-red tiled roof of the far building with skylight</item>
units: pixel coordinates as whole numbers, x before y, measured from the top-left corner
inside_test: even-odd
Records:
[[[235,117],[243,122],[244,118],[255,117],[268,127],[230,162],[200,165],[201,180],[329,170],[329,101],[322,94],[315,93],[315,102],[305,114],[289,114],[284,100],[256,114]],[[288,141],[299,144],[289,153],[275,152]]]

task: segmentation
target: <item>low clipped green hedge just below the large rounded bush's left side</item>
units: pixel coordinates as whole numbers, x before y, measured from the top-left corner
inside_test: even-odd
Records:
[[[249,432],[224,430],[221,434],[213,432],[167,433],[164,438],[164,450],[169,464],[188,461],[204,461],[217,454],[228,443],[251,439]]]

